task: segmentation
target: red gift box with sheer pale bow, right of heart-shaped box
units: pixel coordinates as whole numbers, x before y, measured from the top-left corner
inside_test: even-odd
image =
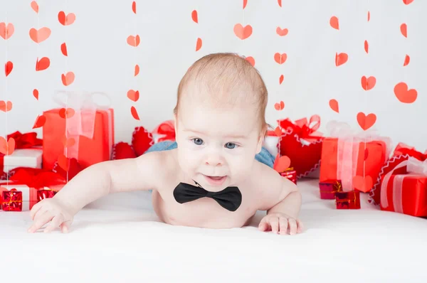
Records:
[[[322,143],[320,182],[339,179],[343,191],[370,191],[389,156],[391,140],[371,131],[354,133],[345,123],[328,126],[332,137]]]

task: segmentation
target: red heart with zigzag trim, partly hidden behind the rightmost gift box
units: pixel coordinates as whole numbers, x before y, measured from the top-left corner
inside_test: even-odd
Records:
[[[408,146],[404,143],[399,143],[394,149],[394,153],[391,158],[386,161],[386,164],[382,166],[379,171],[379,177],[376,179],[376,183],[374,184],[374,188],[369,192],[369,203],[374,203],[375,205],[380,205],[381,202],[381,180],[384,176],[396,168],[401,162],[407,161],[409,157],[413,157],[420,161],[424,161],[427,159],[427,151],[426,153],[421,153],[417,151],[415,148]],[[399,169],[394,171],[394,174],[406,174],[408,171],[406,170],[406,166],[402,166]]]

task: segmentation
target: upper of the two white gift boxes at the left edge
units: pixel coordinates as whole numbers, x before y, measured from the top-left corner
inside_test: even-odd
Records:
[[[17,167],[41,169],[43,151],[41,147],[33,149],[15,149],[11,155],[4,156],[3,171],[9,172]]]

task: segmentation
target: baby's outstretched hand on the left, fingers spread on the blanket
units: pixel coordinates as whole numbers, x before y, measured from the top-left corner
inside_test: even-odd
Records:
[[[30,215],[33,220],[33,225],[28,228],[28,233],[36,232],[49,221],[51,221],[51,223],[44,228],[45,233],[49,233],[58,227],[60,227],[62,233],[67,233],[73,222],[73,215],[65,208],[65,205],[56,200],[56,198],[45,198],[36,203],[33,208],[31,208]]]

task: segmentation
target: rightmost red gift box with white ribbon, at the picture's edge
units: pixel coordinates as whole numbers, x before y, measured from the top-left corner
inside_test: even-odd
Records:
[[[406,174],[395,174],[406,167]],[[427,159],[409,156],[381,178],[381,210],[427,216]]]

